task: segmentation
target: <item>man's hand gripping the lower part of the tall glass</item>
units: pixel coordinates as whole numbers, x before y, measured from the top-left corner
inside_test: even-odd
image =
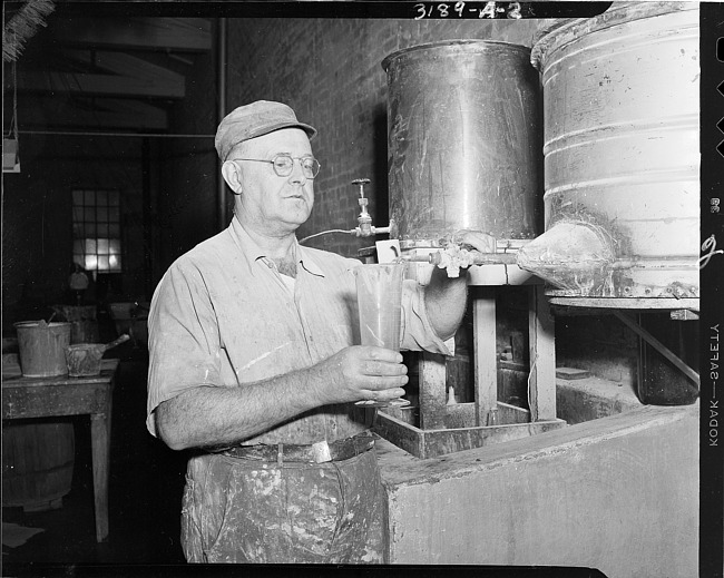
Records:
[[[404,395],[408,383],[402,355],[370,345],[345,347],[311,370],[321,404],[389,401]]]

